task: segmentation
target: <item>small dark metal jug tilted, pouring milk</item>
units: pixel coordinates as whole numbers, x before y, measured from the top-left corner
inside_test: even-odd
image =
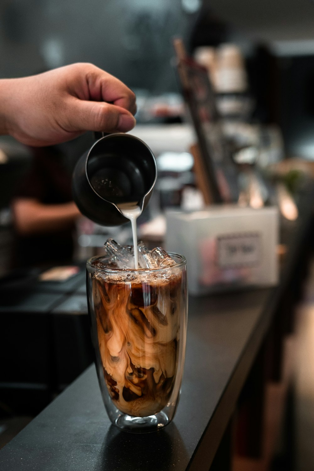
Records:
[[[156,181],[152,151],[138,138],[111,134],[84,154],[73,173],[73,198],[80,211],[102,225],[128,222],[116,205],[135,202],[144,208]]]

